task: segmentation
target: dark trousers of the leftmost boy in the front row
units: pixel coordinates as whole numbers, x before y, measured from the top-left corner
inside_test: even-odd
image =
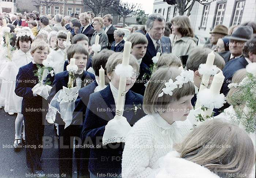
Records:
[[[33,171],[42,169],[40,161],[43,152],[43,136],[44,136],[44,123],[42,114],[30,113],[24,116],[24,126],[26,134],[26,160],[27,166]]]

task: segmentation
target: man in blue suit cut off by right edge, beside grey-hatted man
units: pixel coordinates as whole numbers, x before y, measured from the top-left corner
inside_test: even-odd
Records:
[[[251,28],[252,29],[252,28]],[[246,41],[243,50],[243,55],[226,63],[223,69],[225,80],[222,86],[222,93],[226,96],[229,92],[228,84],[231,83],[234,73],[242,68],[245,68],[248,63],[256,62],[256,36]]]

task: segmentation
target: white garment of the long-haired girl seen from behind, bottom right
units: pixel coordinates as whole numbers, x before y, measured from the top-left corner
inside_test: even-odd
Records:
[[[180,158],[180,154],[176,151],[160,158],[158,165],[160,168],[148,178],[220,178],[207,168]]]

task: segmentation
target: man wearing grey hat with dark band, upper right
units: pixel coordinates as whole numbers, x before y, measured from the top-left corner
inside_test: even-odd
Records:
[[[229,62],[230,60],[240,58],[242,56],[245,42],[251,38],[253,30],[251,27],[238,27],[229,38],[229,51],[220,52],[219,55]]]

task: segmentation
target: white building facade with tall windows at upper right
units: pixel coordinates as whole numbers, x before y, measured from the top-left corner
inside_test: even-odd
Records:
[[[176,4],[169,5],[163,0],[154,0],[153,13],[162,14],[166,21],[179,15]],[[196,35],[208,37],[209,32],[218,24],[229,28],[246,21],[256,21],[256,1],[218,0],[203,5],[196,2],[189,19]]]

